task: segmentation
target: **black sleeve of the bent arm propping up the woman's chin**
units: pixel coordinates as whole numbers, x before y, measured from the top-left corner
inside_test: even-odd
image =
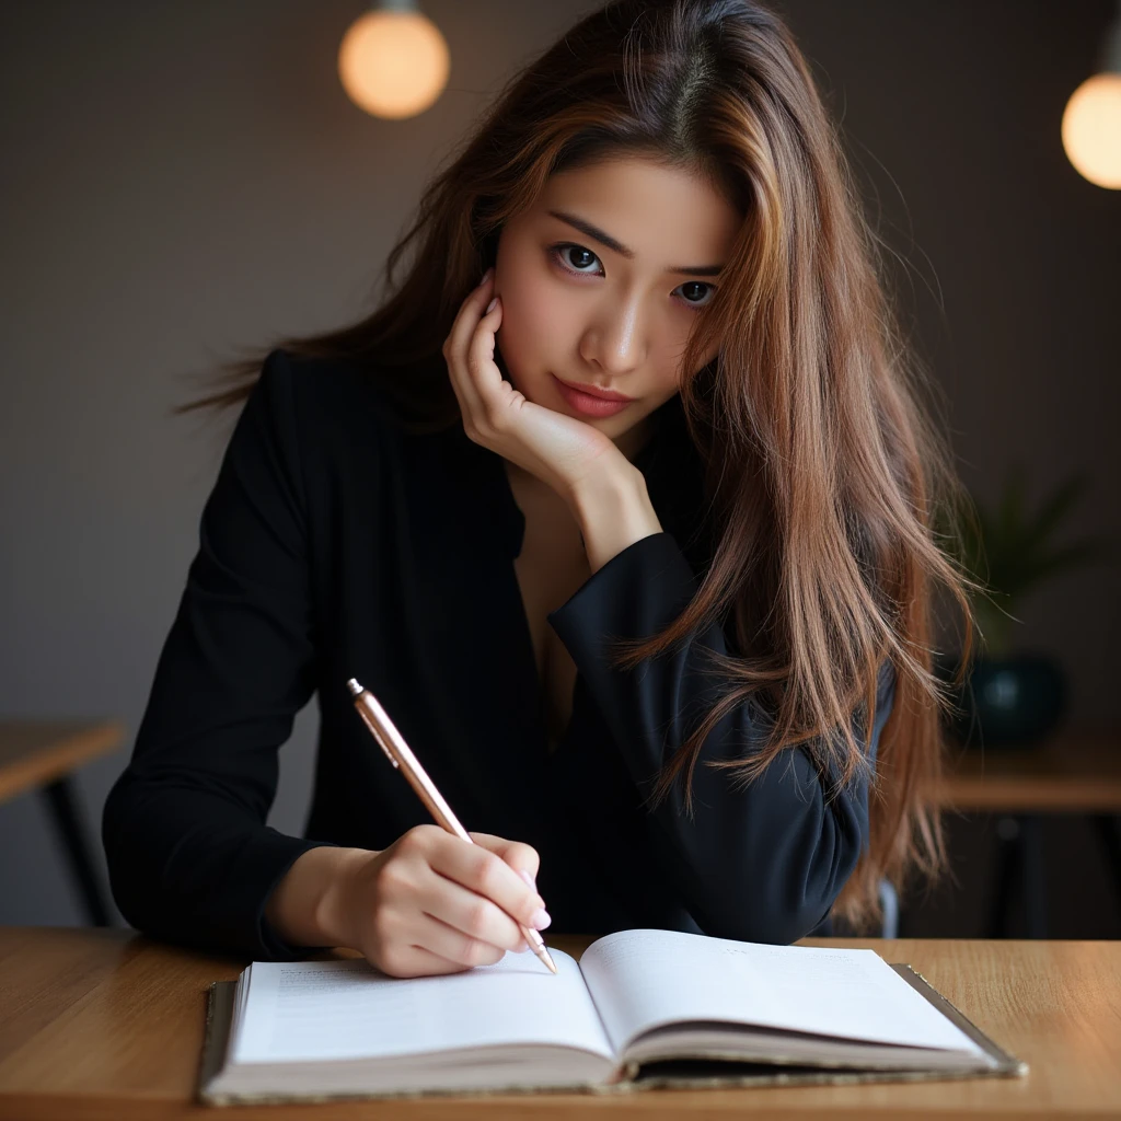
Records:
[[[643,797],[716,696],[719,683],[703,648],[728,655],[728,643],[713,626],[692,634],[683,648],[623,671],[610,665],[606,640],[651,637],[680,614],[696,591],[674,537],[654,534],[612,557],[549,615]],[[884,661],[872,763],[893,698],[895,670]],[[853,726],[862,742],[859,717]],[[657,849],[667,854],[666,874],[705,934],[785,945],[822,921],[867,846],[868,780],[858,772],[826,804],[823,779],[804,747],[776,757],[747,788],[733,789],[729,771],[704,766],[757,750],[761,729],[758,707],[738,705],[713,729],[697,758],[693,819],[684,809],[680,782],[651,816],[665,841]]]

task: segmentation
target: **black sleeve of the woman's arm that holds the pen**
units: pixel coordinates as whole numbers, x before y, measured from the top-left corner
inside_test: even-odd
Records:
[[[132,759],[102,819],[113,898],[132,926],[262,960],[307,953],[263,910],[316,846],[265,825],[279,748],[315,682],[294,416],[291,370],[274,351],[203,510]]]

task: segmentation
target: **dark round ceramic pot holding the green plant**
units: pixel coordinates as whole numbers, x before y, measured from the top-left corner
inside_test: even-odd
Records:
[[[949,680],[955,669],[943,663],[939,676]],[[947,717],[947,730],[970,748],[1038,743],[1066,715],[1066,674],[1044,655],[976,658],[963,685],[954,696],[962,712]]]

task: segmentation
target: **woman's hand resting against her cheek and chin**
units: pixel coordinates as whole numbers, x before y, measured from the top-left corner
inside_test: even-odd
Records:
[[[463,302],[443,346],[467,436],[536,475],[566,501],[613,476],[633,475],[633,464],[610,437],[582,420],[535,405],[502,377],[494,363],[501,299],[487,311],[493,276],[489,269]]]

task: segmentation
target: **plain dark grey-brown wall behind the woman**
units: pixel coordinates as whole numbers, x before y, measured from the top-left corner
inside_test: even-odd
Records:
[[[589,7],[427,0],[450,87],[379,122],[335,75],[356,0],[0,6],[0,713],[135,732],[229,434],[170,416],[185,374],[363,314],[438,160]],[[782,7],[896,254],[966,483],[991,498],[1021,463],[1038,495],[1087,469],[1071,534],[1121,537],[1121,193],[1081,179],[1058,138],[1112,4]],[[1099,568],[1025,605],[1025,645],[1071,673],[1074,723],[1121,724],[1119,602]],[[281,753],[270,823],[291,833],[313,736],[307,711]],[[91,830],[126,758],[77,776]],[[1121,934],[1088,832],[1047,831],[1054,935]],[[905,934],[980,933],[991,823],[952,833],[962,888],[905,911]],[[0,805],[0,923],[82,921],[55,845],[35,796]]]

